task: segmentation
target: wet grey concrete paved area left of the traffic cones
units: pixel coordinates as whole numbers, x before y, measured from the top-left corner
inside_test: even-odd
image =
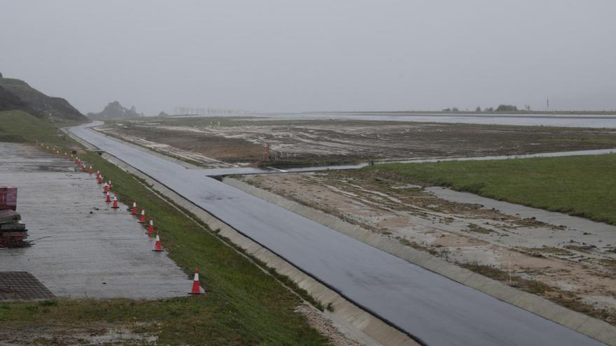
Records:
[[[56,296],[186,296],[192,280],[75,164],[36,147],[0,143],[0,185],[15,185],[34,245],[0,250],[0,271],[27,271]],[[46,238],[42,238],[46,237]]]

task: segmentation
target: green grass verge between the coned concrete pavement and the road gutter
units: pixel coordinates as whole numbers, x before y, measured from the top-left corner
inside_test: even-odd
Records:
[[[23,118],[27,119],[27,127],[15,128],[29,132],[15,131],[24,138],[55,134],[48,123]],[[153,333],[165,345],[326,344],[302,315],[293,312],[300,298],[274,277],[169,206],[132,175],[94,152],[85,154],[85,160],[113,181],[121,201],[138,201],[148,215],[155,217],[169,257],[187,275],[200,268],[202,285],[208,293],[168,301],[61,299],[52,303],[0,303],[4,328],[107,323]]]

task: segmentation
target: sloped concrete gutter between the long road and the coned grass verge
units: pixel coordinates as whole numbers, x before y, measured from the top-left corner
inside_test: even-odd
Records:
[[[186,208],[186,210],[192,212],[194,215],[202,219],[210,229],[217,230],[218,234],[228,238],[233,244],[241,247],[247,254],[264,262],[270,268],[274,268],[276,273],[285,275],[293,280],[298,287],[306,290],[313,298],[324,305],[332,303],[334,310],[332,312],[325,312],[325,315],[330,317],[335,323],[345,326],[346,329],[353,329],[357,331],[355,337],[362,340],[366,345],[383,345],[383,346],[410,346],[419,345],[412,338],[409,338],[407,334],[398,331],[389,324],[381,321],[381,319],[374,317],[368,312],[358,308],[357,305],[347,301],[345,298],[337,294],[337,292],[325,287],[325,285],[318,282],[313,277],[300,271],[300,269],[289,264],[287,261],[278,257],[273,252],[262,247],[260,244],[255,243],[250,238],[239,233],[228,224],[225,224],[220,219],[217,219],[213,215],[209,214],[202,208],[195,206],[192,202],[184,199],[181,195],[160,184],[156,180],[153,180],[148,175],[133,168],[124,161],[113,157],[111,154],[103,153],[102,157],[107,161],[110,161],[123,170],[136,175],[137,177],[145,180],[152,186],[157,192],[167,196],[169,199],[177,203],[179,206]]]

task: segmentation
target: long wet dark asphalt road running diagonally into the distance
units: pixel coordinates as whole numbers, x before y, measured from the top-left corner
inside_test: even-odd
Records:
[[[603,345],[218,182],[202,169],[184,168],[83,126],[69,131],[428,345]]]

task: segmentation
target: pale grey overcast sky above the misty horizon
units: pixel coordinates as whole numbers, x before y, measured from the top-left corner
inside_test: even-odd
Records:
[[[82,113],[616,109],[616,1],[0,0],[0,72]]]

